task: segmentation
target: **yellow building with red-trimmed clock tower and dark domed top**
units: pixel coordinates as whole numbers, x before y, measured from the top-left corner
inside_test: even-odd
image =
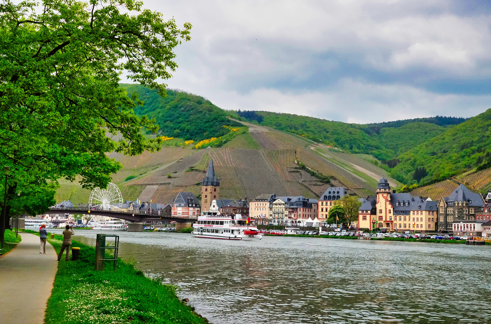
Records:
[[[383,177],[375,192],[376,196],[360,199],[359,229],[435,232],[438,202],[410,193],[396,193]]]

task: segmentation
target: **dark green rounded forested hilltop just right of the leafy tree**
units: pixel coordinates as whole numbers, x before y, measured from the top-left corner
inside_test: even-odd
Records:
[[[136,107],[136,114],[156,118],[160,135],[201,141],[230,133],[224,125],[243,126],[231,121],[223,109],[197,95],[167,89],[167,97],[162,98],[155,89],[140,84],[121,83],[120,86],[130,96],[133,92],[138,94],[144,105]]]

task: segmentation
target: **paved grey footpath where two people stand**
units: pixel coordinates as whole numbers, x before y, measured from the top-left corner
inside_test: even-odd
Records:
[[[0,323],[43,324],[58,267],[56,252],[46,243],[39,254],[39,236],[19,233],[22,241],[0,257]]]

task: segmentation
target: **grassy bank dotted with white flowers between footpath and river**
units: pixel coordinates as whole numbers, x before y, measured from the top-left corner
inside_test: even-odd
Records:
[[[61,235],[48,236],[56,252],[62,240]],[[72,247],[81,248],[80,260],[59,261],[46,324],[207,323],[177,298],[174,286],[149,279],[122,260],[116,272],[111,263],[108,270],[95,271],[95,249],[77,241]]]

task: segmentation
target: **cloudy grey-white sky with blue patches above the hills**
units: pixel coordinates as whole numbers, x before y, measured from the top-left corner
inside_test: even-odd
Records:
[[[344,122],[491,108],[491,1],[157,1],[190,22],[166,83],[224,109]]]

